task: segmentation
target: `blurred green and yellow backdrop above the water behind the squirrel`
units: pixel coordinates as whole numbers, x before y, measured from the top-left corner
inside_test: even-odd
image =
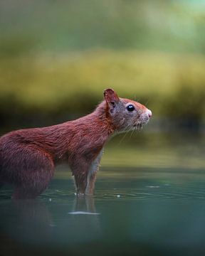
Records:
[[[91,112],[107,87],[153,112],[149,129],[205,119],[205,1],[0,1],[1,132]]]

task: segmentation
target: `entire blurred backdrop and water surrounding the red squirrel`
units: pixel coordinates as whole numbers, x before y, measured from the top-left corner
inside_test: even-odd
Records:
[[[1,255],[205,255],[205,1],[0,1],[0,135],[88,114],[107,87],[149,124],[107,143],[90,202],[68,166],[37,201],[1,188]]]

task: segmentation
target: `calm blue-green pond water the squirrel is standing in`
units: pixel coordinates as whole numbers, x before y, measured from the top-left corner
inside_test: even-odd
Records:
[[[137,139],[107,145],[93,197],[65,166],[36,200],[2,188],[0,255],[204,255],[204,137]]]

